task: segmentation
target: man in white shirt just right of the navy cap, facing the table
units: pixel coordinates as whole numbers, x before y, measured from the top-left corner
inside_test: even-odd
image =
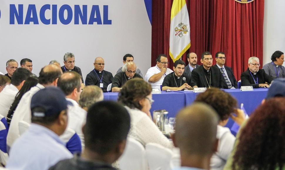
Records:
[[[82,126],[86,122],[87,112],[78,104],[81,94],[81,75],[77,72],[65,72],[58,79],[57,86],[66,95],[68,101],[68,126],[73,129],[81,140],[82,149],[84,148],[84,136]]]

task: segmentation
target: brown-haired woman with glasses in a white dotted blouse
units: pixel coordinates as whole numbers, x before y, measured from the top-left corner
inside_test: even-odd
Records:
[[[144,146],[152,142],[172,148],[172,141],[168,140],[152,121],[150,108],[154,101],[151,91],[151,85],[143,79],[131,79],[119,93],[118,101],[125,105],[131,117],[129,137]]]

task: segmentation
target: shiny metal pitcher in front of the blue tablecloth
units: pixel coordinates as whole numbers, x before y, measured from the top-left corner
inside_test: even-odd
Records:
[[[165,124],[168,121],[168,111],[167,110],[155,110],[152,112],[153,122],[157,125],[162,133],[165,133]]]

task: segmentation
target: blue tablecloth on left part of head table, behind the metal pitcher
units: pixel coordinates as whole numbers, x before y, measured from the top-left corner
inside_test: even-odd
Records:
[[[117,99],[118,93],[104,93],[104,100],[117,101]],[[150,113],[154,110],[165,109],[169,113],[168,117],[175,117],[178,111],[185,107],[184,93],[162,91],[161,94],[152,94],[152,99],[154,103],[151,106]]]

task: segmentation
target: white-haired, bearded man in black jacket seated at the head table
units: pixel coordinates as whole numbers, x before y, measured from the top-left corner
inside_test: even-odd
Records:
[[[259,69],[259,59],[250,57],[248,59],[248,69],[240,76],[242,86],[252,86],[253,88],[269,88],[269,84],[274,77],[265,73],[264,69]]]

